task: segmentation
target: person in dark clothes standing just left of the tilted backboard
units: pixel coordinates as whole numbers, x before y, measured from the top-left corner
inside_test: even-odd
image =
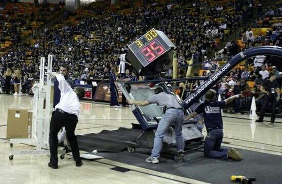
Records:
[[[119,108],[118,104],[118,93],[117,93],[117,83],[115,77],[115,68],[113,67],[110,71],[109,76],[109,85],[110,85],[110,92],[111,92],[111,103],[110,107]]]

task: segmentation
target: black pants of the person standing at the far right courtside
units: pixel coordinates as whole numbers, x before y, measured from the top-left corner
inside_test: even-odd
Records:
[[[261,107],[261,111],[260,111],[259,120],[264,120],[265,112],[269,103],[271,107],[271,121],[274,122],[275,108],[276,108],[276,97],[274,95],[265,95],[265,98],[263,99],[263,106]]]

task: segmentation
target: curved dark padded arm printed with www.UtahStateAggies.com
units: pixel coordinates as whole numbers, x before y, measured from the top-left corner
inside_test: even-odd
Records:
[[[184,109],[188,109],[193,105],[200,97],[202,97],[209,89],[212,88],[221,78],[223,78],[232,68],[238,65],[243,60],[256,55],[274,55],[282,57],[282,48],[276,46],[265,46],[251,48],[246,51],[240,52],[230,59],[223,67],[212,74],[195,92],[188,96],[181,104]]]

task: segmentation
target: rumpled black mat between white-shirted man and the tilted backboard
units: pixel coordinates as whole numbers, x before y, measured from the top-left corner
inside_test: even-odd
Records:
[[[103,130],[98,134],[77,135],[79,150],[92,152],[121,152],[127,148],[124,141],[135,140],[141,129],[119,128],[115,131]]]

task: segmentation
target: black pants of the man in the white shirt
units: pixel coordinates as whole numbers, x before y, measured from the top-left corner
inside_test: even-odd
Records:
[[[74,130],[78,122],[77,116],[75,114],[62,113],[58,109],[53,112],[51,122],[50,122],[50,134],[49,134],[49,144],[50,144],[50,162],[52,165],[58,164],[58,132],[62,127],[66,128],[67,138],[69,140],[72,156],[75,161],[80,161],[79,150],[77,145],[77,139],[74,135]]]

